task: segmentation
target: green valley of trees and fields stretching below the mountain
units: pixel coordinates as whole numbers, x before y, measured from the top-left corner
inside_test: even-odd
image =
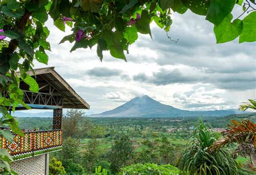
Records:
[[[178,172],[181,155],[200,125],[199,120],[207,125],[215,138],[220,138],[221,131],[231,120],[245,118],[255,122],[256,113],[201,119],[94,118],[86,117],[82,110],[68,110],[63,117],[63,150],[50,153],[50,173],[97,174],[103,170],[102,174],[133,174],[130,172],[133,169],[148,168]],[[23,129],[52,128],[50,117],[21,117],[18,121]],[[235,149],[234,144],[228,147]],[[243,171],[250,170],[248,156],[237,156],[236,160]]]

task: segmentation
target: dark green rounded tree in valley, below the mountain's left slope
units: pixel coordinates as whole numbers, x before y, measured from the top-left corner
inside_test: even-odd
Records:
[[[130,138],[122,135],[120,139],[114,142],[111,148],[109,155],[111,172],[116,173],[121,167],[131,164],[133,153],[134,150]]]

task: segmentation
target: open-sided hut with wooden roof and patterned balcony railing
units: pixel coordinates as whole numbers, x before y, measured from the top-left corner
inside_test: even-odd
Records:
[[[17,73],[19,74],[19,73]],[[21,81],[23,101],[32,109],[52,109],[52,130],[24,132],[24,137],[14,134],[14,141],[0,137],[0,148],[9,151],[14,159],[11,168],[18,174],[48,174],[49,152],[62,150],[63,108],[90,109],[89,104],[55,71],[54,67],[38,68],[29,75],[35,78],[39,92],[32,93]],[[18,106],[16,110],[25,110]]]

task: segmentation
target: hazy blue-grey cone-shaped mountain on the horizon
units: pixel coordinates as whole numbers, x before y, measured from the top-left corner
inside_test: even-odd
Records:
[[[148,95],[137,96],[123,105],[94,117],[184,117],[184,116],[225,116],[235,114],[232,110],[188,111],[162,104]]]

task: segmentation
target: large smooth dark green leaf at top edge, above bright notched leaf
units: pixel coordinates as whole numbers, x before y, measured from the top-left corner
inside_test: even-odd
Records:
[[[219,25],[223,19],[231,13],[234,8],[234,4],[235,0],[211,0],[206,20],[215,25]]]

